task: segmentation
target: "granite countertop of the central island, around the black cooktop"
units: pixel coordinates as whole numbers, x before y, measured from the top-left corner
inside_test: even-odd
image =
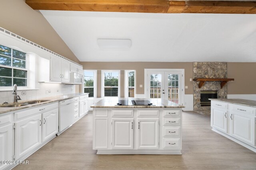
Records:
[[[178,105],[176,103],[170,102],[163,99],[150,99],[150,102],[154,106],[115,106],[118,100],[149,100],[141,98],[104,98],[90,107],[117,107],[117,108],[184,108],[185,106]]]

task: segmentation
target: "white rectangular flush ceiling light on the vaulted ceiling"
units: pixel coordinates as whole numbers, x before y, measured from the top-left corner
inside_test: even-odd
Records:
[[[132,46],[130,39],[97,39],[97,44],[102,49],[129,49]]]

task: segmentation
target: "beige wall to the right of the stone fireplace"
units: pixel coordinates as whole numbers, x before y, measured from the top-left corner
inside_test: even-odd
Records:
[[[256,94],[256,63],[228,63],[228,94]]]

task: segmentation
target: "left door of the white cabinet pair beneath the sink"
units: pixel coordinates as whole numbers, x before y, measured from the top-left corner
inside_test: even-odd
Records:
[[[31,116],[16,122],[15,129],[15,156],[20,158],[30,150],[41,144],[42,114]]]

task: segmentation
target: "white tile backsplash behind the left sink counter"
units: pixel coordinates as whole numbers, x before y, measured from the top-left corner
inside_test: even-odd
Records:
[[[22,100],[33,100],[50,96],[58,96],[63,94],[72,94],[76,92],[76,86],[72,84],[60,83],[38,83],[39,90],[19,90],[18,95]],[[4,102],[13,103],[14,95],[12,91],[0,92],[0,104]],[[20,102],[20,100],[18,101]]]

